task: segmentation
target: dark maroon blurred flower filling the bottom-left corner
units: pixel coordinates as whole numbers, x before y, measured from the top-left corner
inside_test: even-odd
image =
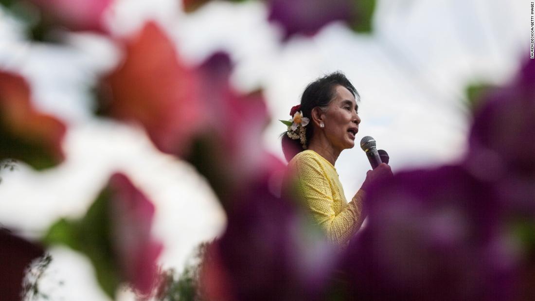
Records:
[[[5,301],[21,299],[22,280],[30,263],[43,256],[41,246],[0,228],[0,296]]]

